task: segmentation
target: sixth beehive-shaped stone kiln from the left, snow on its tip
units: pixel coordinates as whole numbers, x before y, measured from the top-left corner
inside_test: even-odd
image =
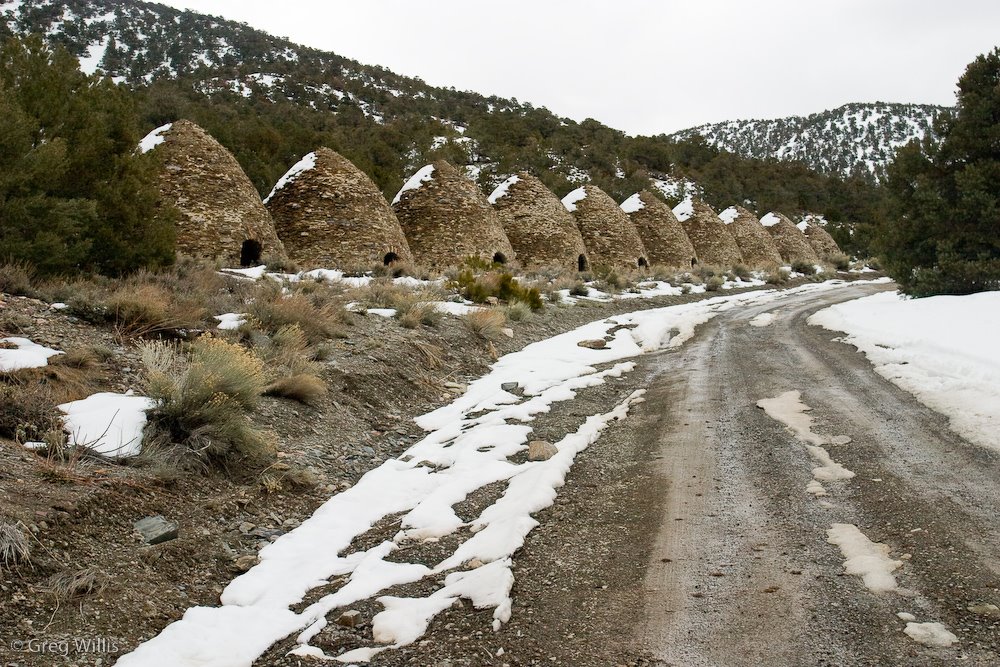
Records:
[[[643,190],[622,202],[621,209],[639,232],[650,264],[689,269],[698,263],[691,239],[662,199]]]

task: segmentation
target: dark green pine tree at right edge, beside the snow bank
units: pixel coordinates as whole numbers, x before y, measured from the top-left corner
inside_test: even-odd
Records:
[[[889,168],[886,270],[914,296],[1000,289],[1000,49],[966,68],[957,111],[935,134]]]

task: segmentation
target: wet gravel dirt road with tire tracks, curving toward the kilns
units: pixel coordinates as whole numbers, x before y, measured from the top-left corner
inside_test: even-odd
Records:
[[[661,511],[637,651],[684,666],[1000,664],[1000,614],[988,606],[1000,603],[1000,458],[806,324],[876,289],[724,313],[647,360],[632,428],[656,443],[645,487]],[[817,466],[806,443],[756,407],[791,390],[815,432],[851,439],[826,447],[856,474],[823,482],[826,496],[806,491]],[[888,546],[898,590],[876,594],[844,573],[827,540],[835,523]],[[917,643],[900,612],[943,623],[957,643]]]

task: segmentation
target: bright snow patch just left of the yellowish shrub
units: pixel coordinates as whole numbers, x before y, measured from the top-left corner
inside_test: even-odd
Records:
[[[70,445],[86,447],[103,456],[135,456],[142,447],[146,410],[154,401],[145,396],[103,392],[58,406]]]

